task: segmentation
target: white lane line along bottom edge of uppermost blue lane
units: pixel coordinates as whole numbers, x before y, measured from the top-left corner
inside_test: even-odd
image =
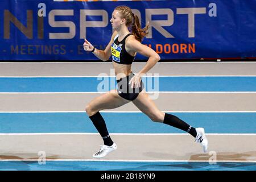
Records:
[[[0,94],[86,94],[86,93],[106,93],[106,92],[0,92]],[[256,93],[255,91],[253,92],[230,92],[230,91],[223,91],[223,92],[191,92],[191,91],[160,91],[160,92],[147,92],[147,93],[233,93],[233,94],[237,94],[237,93]]]

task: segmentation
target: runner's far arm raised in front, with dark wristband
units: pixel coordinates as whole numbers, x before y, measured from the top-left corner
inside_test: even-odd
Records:
[[[114,37],[117,35],[117,31],[114,31],[113,32],[113,35],[111,37],[111,40],[108,44],[108,46],[105,48],[104,51],[102,50],[99,50],[99,49],[96,49],[93,51],[93,54],[98,57],[98,59],[101,59],[102,61],[108,61],[109,60],[109,57],[111,56],[111,44],[113,43],[114,41]],[[84,50],[85,51],[92,51],[93,50],[93,46],[91,43],[88,42],[88,40],[85,39],[85,42],[84,42]]]

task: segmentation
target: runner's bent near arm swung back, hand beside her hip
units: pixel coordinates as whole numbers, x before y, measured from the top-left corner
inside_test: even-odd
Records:
[[[141,69],[141,71],[137,74],[137,77],[134,77],[133,80],[131,80],[131,87],[133,86],[135,88],[138,88],[140,86],[140,79],[141,77],[146,74],[158,61],[160,60],[160,56],[158,53],[156,53],[153,49],[150,47],[147,47],[140,43],[138,40],[136,40],[134,37],[131,36],[129,41],[126,42],[126,47],[130,50],[136,51],[137,53],[140,53],[143,56],[148,57],[146,65]]]

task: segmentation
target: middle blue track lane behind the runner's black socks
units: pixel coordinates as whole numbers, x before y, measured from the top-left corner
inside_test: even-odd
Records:
[[[256,113],[171,113],[207,133],[256,133]],[[184,133],[143,113],[102,113],[109,133]],[[86,113],[0,113],[0,133],[97,133]]]

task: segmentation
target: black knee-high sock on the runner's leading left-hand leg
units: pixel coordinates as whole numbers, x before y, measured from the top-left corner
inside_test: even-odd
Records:
[[[89,118],[90,118],[90,120],[92,120],[93,125],[98,130],[98,133],[100,133],[102,139],[104,140],[104,144],[106,146],[112,146],[112,144],[114,142],[112,141],[112,139],[109,136],[108,129],[106,128],[106,123],[105,123],[104,119],[102,118],[101,114],[99,112],[97,112],[96,114],[91,115]]]

